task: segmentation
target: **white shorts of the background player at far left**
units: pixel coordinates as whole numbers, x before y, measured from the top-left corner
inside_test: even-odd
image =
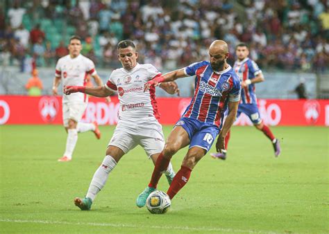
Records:
[[[87,102],[64,102],[62,103],[63,125],[69,127],[69,119],[75,120],[78,123],[85,109]]]

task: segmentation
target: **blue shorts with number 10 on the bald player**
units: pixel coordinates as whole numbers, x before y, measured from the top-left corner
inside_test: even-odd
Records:
[[[219,134],[219,128],[216,125],[192,118],[180,118],[175,126],[182,126],[189,134],[189,149],[197,146],[208,152]]]

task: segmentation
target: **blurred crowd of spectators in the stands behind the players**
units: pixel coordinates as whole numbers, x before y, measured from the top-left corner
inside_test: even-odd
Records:
[[[246,42],[262,69],[323,73],[329,64],[326,0],[34,0],[0,9],[0,61],[54,66],[68,39],[83,37],[97,67],[119,66],[117,42],[132,39],[140,63],[176,69],[208,60],[208,46]]]

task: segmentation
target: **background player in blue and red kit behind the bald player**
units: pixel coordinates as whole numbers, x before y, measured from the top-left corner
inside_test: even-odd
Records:
[[[264,76],[258,65],[248,58],[249,50],[246,44],[238,44],[235,50],[237,54],[237,61],[233,66],[235,73],[239,75],[241,80],[242,92],[241,100],[239,103],[239,109],[237,109],[237,117],[241,113],[246,114],[249,117],[253,125],[260,131],[262,131],[272,142],[275,156],[279,156],[280,142],[273,135],[269,127],[264,125],[262,118],[260,118],[260,111],[258,111],[257,98],[255,93],[255,83],[263,82]],[[225,138],[225,149],[227,150],[228,140],[230,138],[230,132]],[[216,154],[210,154],[213,158],[226,159],[226,151],[218,152]]]

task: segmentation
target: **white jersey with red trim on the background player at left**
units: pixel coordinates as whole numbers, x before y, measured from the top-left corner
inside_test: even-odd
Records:
[[[70,55],[61,57],[56,65],[56,77],[62,78],[63,87],[68,85],[85,86],[86,75],[95,75],[96,69],[94,62],[89,58],[78,55],[71,58]],[[85,93],[71,93],[65,95],[63,93],[62,102],[86,102],[87,96]]]

